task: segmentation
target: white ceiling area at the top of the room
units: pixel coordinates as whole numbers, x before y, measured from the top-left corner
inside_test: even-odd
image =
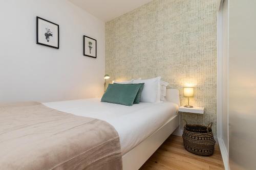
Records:
[[[152,0],[69,0],[103,21],[110,21]]]

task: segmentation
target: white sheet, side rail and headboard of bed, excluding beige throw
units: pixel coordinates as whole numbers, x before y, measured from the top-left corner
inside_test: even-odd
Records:
[[[138,169],[179,126],[179,92],[167,89],[166,97],[168,102],[140,103],[133,106],[103,103],[100,99],[43,104],[59,111],[98,118],[111,124],[120,137],[123,169]],[[141,153],[145,149],[147,151]]]

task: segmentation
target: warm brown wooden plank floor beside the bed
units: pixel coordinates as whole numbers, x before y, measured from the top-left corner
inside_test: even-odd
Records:
[[[182,137],[171,135],[140,168],[140,170],[147,169],[221,170],[224,169],[224,165],[217,144],[214,155],[198,156],[184,149]]]

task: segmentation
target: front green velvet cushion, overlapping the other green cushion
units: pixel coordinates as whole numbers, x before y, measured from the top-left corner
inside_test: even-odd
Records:
[[[132,106],[140,87],[140,84],[109,84],[101,102]]]

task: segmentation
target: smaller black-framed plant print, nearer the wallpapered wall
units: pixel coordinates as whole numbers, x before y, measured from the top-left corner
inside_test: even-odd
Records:
[[[97,40],[88,36],[83,36],[83,55],[97,58]]]

